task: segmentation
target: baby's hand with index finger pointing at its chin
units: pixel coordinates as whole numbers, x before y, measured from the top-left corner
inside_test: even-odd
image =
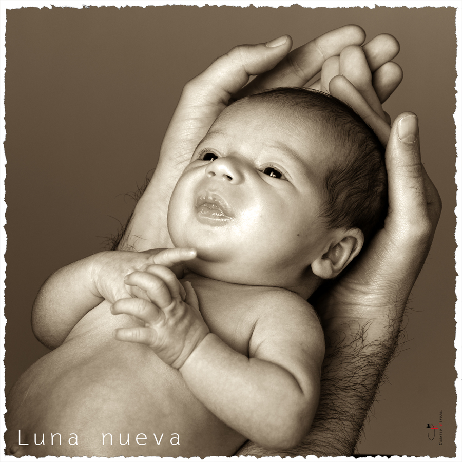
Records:
[[[146,297],[145,294],[125,284],[124,279],[134,271],[145,271],[151,265],[164,265],[173,269],[182,277],[181,263],[196,257],[192,248],[153,249],[146,252],[102,252],[92,267],[92,280],[95,295],[110,303],[130,296]],[[174,268],[176,266],[176,268]]]

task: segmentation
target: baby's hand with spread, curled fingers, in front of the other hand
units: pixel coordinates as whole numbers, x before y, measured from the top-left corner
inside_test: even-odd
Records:
[[[112,314],[125,313],[144,322],[144,326],[116,329],[114,338],[145,344],[165,363],[181,368],[209,333],[192,285],[186,282],[183,287],[170,269],[160,265],[131,273],[125,282],[149,301],[125,298],[112,305]]]

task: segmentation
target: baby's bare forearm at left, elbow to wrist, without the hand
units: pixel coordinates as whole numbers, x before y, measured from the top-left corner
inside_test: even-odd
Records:
[[[92,290],[93,258],[90,256],[59,269],[38,292],[32,308],[32,330],[46,347],[59,347],[74,325],[103,300]]]

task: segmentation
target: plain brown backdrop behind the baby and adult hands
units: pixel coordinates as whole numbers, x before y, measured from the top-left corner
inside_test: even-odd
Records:
[[[47,350],[34,296],[55,269],[104,248],[156,165],[183,84],[240,43],[294,46],[344,24],[401,43],[405,80],[385,105],[420,119],[444,210],[413,290],[406,343],[388,369],[359,452],[454,457],[455,9],[22,8],[6,26],[6,389]],[[427,424],[442,411],[443,440]],[[348,428],[349,422],[345,422]]]

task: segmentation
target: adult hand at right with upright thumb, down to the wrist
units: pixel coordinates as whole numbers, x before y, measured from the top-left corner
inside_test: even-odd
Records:
[[[438,191],[420,159],[418,120],[415,114],[399,115],[391,128],[372,110],[343,76],[331,81],[331,93],[353,105],[385,144],[389,213],[384,228],[329,291],[324,316],[351,317],[348,304],[364,307],[371,320],[372,307],[389,307],[390,294],[406,303],[430,249],[441,212]],[[389,138],[390,136],[390,138]],[[333,290],[332,290],[333,289]],[[361,295],[362,294],[362,295]],[[338,303],[344,308],[338,312]],[[387,315],[382,311],[378,316]],[[369,331],[373,329],[371,324]]]

